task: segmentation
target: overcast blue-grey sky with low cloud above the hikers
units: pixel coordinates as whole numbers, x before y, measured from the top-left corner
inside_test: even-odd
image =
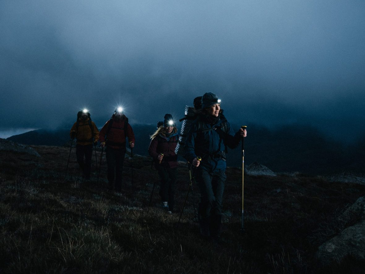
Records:
[[[231,123],[364,134],[365,1],[0,0],[0,137],[183,117],[214,92]]]

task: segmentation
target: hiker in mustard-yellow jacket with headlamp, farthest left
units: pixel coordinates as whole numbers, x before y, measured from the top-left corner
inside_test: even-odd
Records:
[[[96,146],[99,140],[99,130],[95,123],[91,121],[90,113],[82,110],[77,113],[77,121],[70,130],[70,137],[76,137],[76,158],[82,170],[82,177],[90,180],[91,157],[93,144]],[[85,156],[85,160],[84,160]]]

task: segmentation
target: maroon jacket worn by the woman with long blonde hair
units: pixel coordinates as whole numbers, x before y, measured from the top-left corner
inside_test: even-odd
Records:
[[[178,141],[178,134],[172,134],[170,138],[160,134],[151,140],[150,146],[148,148],[148,154],[152,157],[155,163],[155,167],[158,168],[162,165],[165,168],[177,167],[177,155],[175,153],[175,148]],[[163,153],[164,158],[162,158],[161,164],[158,163],[157,156]]]

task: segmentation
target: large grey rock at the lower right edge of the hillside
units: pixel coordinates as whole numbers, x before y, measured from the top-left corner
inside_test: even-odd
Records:
[[[357,199],[339,219],[344,222],[359,219],[361,221],[347,227],[318,248],[317,258],[324,265],[333,260],[341,261],[346,255],[365,259],[365,197]]]

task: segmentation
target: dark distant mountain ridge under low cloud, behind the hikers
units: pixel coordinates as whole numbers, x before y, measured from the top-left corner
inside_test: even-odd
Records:
[[[136,145],[134,153],[148,155],[150,135],[156,126],[132,125]],[[232,125],[233,129],[239,126]],[[302,172],[332,174],[343,171],[364,172],[365,137],[356,145],[343,146],[328,140],[315,128],[288,125],[276,130],[249,125],[245,139],[245,166],[257,162],[273,172]],[[14,135],[7,140],[26,145],[63,146],[69,140],[70,129],[32,130]],[[179,160],[184,160],[179,156]],[[227,165],[242,167],[241,145],[228,149]]]

